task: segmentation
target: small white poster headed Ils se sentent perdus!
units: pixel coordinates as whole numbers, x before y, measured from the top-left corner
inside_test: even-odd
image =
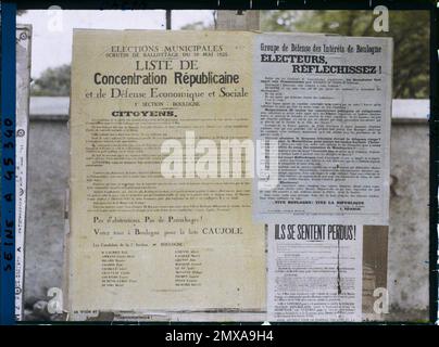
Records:
[[[268,320],[362,319],[363,227],[268,226]]]

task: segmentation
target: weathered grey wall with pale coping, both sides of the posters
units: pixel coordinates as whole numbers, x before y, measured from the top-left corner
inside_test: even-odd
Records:
[[[67,98],[32,101],[25,275],[28,308],[36,298],[45,297],[47,288],[62,285],[67,105]],[[393,107],[398,119],[391,133],[389,320],[428,318],[428,124],[426,119],[406,120],[426,110],[425,102],[421,106],[404,102]]]

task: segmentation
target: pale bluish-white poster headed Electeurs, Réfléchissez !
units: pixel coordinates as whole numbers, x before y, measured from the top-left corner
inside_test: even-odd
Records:
[[[254,137],[278,146],[259,157],[258,220],[388,224],[391,56],[389,38],[255,37]]]

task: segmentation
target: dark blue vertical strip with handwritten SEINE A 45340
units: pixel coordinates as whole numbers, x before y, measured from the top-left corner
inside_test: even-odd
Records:
[[[0,324],[15,324],[15,12],[1,3]]]

